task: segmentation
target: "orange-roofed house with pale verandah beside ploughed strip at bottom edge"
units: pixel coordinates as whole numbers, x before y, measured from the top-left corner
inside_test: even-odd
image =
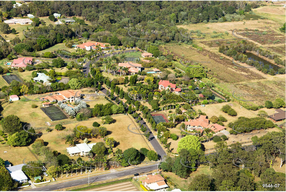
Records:
[[[142,184],[148,190],[151,189],[155,191],[169,187],[165,182],[165,178],[162,177],[161,175],[147,175],[147,179],[142,180]]]

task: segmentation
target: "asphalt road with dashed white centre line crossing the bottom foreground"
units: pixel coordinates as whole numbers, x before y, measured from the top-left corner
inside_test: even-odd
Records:
[[[88,184],[88,182],[89,182],[89,184],[93,184],[93,182],[97,182],[97,181],[104,181],[107,179],[115,179],[115,178],[119,178],[119,177],[123,177],[123,176],[129,176],[129,175],[134,176],[135,173],[145,173],[145,172],[150,172],[153,170],[157,171],[157,164],[146,165],[146,166],[142,166],[140,168],[134,167],[134,168],[124,170],[124,171],[115,171],[115,172],[109,171],[109,173],[100,174],[97,176],[90,176],[89,178],[84,177],[84,178],[76,179],[76,180],[72,180],[72,181],[66,181],[66,182],[62,182],[62,183],[46,185],[43,187],[36,187],[34,189],[28,189],[26,191],[60,190],[60,189],[66,188],[66,187]],[[85,173],[83,173],[83,174],[86,175]],[[63,177],[64,176],[65,176],[65,174],[63,175]]]

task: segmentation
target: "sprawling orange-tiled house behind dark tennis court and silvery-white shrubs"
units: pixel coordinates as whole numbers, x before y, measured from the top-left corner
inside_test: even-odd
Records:
[[[77,93],[77,95],[75,95]],[[64,90],[64,91],[58,91],[54,94],[51,94],[46,97],[40,98],[42,101],[49,101],[49,102],[57,102],[61,101],[63,103],[65,102],[73,102],[77,99],[80,99],[80,93],[81,91],[74,91],[72,89]]]

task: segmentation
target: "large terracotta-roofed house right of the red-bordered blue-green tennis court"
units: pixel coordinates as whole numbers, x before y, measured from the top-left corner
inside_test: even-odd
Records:
[[[206,115],[201,115],[197,119],[185,121],[184,124],[188,131],[197,130],[197,131],[200,131],[201,133],[206,128],[210,128],[211,130],[215,132],[215,134],[220,133],[221,131],[225,130],[224,126],[221,126],[217,123],[210,124]]]

